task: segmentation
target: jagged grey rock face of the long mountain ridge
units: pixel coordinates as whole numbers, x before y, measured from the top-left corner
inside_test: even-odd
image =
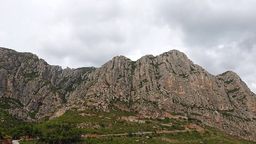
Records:
[[[256,141],[256,95],[236,73],[214,76],[178,50],[136,62],[116,56],[100,68],[62,69],[35,54],[0,48],[0,98],[0,108],[27,121],[88,108],[148,117],[178,112]]]

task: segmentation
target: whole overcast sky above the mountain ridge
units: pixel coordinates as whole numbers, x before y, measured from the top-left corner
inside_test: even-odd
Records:
[[[0,47],[62,68],[176,49],[256,93],[255,0],[0,0]]]

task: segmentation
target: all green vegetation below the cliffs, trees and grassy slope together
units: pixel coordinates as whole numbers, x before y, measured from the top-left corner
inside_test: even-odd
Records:
[[[198,144],[200,142],[204,144],[219,142],[222,144],[256,144],[239,140],[209,126],[204,126],[204,130],[193,128],[185,130],[184,125],[197,123],[200,126],[201,121],[195,118],[137,118],[145,121],[145,123],[138,123],[121,118],[121,116],[136,116],[137,112],[86,110],[67,111],[58,118],[44,122],[24,123],[4,110],[0,109],[0,112],[5,122],[0,123],[1,138],[6,134],[12,137],[38,138],[33,141],[21,140],[20,144]],[[140,134],[137,133],[138,129]],[[163,130],[168,132],[162,133]],[[121,135],[110,136],[108,134]]]

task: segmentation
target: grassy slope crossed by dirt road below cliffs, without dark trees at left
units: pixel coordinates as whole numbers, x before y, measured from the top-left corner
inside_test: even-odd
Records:
[[[2,111],[1,111],[2,112]],[[1,116],[10,117],[5,112],[1,113]],[[55,129],[66,128],[65,133],[68,133],[72,128],[79,129],[80,134],[84,135],[84,140],[78,142],[81,144],[132,144],[132,143],[147,143],[147,144],[256,144],[247,140],[239,140],[231,135],[228,135],[220,130],[212,127],[204,126],[204,130],[193,130],[185,132],[169,132],[160,133],[159,131],[177,131],[184,130],[182,125],[197,124],[189,120],[184,119],[153,119],[142,118],[145,120],[145,124],[137,122],[128,122],[122,120],[120,116],[135,116],[134,112],[101,112],[101,111],[68,111],[64,115],[55,118],[54,120],[48,120],[34,124],[34,128],[40,128],[41,132],[56,132]],[[11,121],[15,121],[12,119]],[[18,123],[17,123],[18,124]],[[165,125],[162,125],[165,124]],[[8,125],[10,126],[10,125]],[[14,125],[13,125],[14,126]],[[138,132],[153,132],[149,134],[131,134]],[[58,131],[58,130],[57,130]],[[112,135],[112,136],[99,136],[101,134],[123,134],[127,135]],[[94,136],[93,134],[98,134]],[[149,138],[146,138],[148,136]],[[28,143],[28,142],[24,142]],[[38,143],[38,142],[34,142]],[[21,142],[22,144],[22,142]]]

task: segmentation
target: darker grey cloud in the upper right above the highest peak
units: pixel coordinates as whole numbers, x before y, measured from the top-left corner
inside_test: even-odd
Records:
[[[254,37],[254,1],[187,1],[161,3],[158,16],[170,27],[180,27],[189,46],[214,46]]]

